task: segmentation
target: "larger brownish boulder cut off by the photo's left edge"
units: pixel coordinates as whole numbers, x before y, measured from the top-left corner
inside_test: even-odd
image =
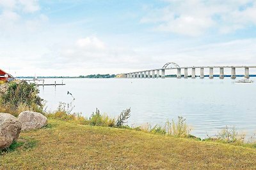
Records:
[[[21,123],[13,115],[0,113],[0,150],[8,148],[19,138]]]

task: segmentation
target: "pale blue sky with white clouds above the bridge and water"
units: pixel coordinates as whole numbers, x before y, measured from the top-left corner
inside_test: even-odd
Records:
[[[256,1],[0,0],[0,68],[14,76],[255,66]]]

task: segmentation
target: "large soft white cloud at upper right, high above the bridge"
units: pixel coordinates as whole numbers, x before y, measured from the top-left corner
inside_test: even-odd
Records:
[[[256,4],[253,1],[167,0],[160,9],[146,9],[148,15],[141,22],[156,24],[158,31],[189,36],[204,34],[209,29],[222,33],[256,25]]]

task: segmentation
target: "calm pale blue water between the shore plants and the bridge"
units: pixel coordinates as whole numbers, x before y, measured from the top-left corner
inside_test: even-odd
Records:
[[[237,78],[240,79],[240,78]],[[251,78],[255,80],[255,78]],[[45,82],[61,83],[62,79]],[[225,78],[155,78],[155,79],[63,79],[65,86],[40,87],[40,96],[48,110],[56,110],[59,102],[76,98],[74,110],[90,117],[96,108],[117,117],[131,107],[129,125],[164,125],[166,120],[186,118],[193,127],[191,134],[205,138],[214,136],[225,125],[253,136],[256,132],[256,83],[234,83]]]

